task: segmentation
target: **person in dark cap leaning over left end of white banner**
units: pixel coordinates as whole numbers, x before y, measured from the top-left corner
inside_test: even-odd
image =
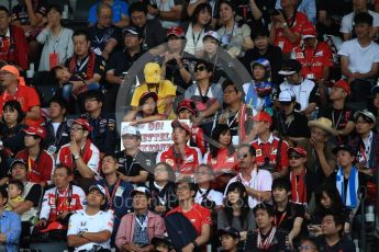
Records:
[[[127,113],[124,116],[124,122],[131,122],[130,125],[134,126],[137,124],[146,124],[154,121],[160,121],[165,119],[165,116],[161,114],[158,114],[158,94],[155,92],[145,92],[142,94],[140,99],[140,104],[137,108],[137,114],[134,118],[132,118],[133,115],[135,115],[134,112]]]

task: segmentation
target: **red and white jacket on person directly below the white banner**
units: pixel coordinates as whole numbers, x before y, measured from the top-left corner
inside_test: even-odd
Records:
[[[186,146],[185,148],[186,157],[177,158],[174,153],[174,146],[165,151],[161,151],[157,156],[158,162],[166,162],[170,164],[175,172],[180,172],[181,174],[193,174],[201,163],[202,156],[199,148]]]

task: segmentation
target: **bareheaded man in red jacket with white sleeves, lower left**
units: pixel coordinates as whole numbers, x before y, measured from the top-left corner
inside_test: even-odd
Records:
[[[34,228],[33,239],[38,241],[37,236],[49,231],[60,230],[60,236],[53,237],[66,241],[68,219],[85,205],[86,194],[76,185],[70,184],[73,171],[65,165],[58,165],[54,170],[54,187],[45,192],[42,201],[40,220]]]

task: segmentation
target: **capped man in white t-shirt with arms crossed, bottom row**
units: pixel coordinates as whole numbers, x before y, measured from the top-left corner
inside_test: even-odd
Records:
[[[87,194],[87,207],[69,218],[67,244],[79,251],[111,251],[113,215],[102,211],[105,204],[105,190],[91,185]]]

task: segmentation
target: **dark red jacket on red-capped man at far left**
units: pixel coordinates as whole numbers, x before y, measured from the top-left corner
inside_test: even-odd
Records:
[[[49,183],[53,175],[54,158],[46,150],[42,150],[36,160],[29,158],[27,149],[21,150],[15,158],[23,159],[27,165],[27,177],[33,183]]]

